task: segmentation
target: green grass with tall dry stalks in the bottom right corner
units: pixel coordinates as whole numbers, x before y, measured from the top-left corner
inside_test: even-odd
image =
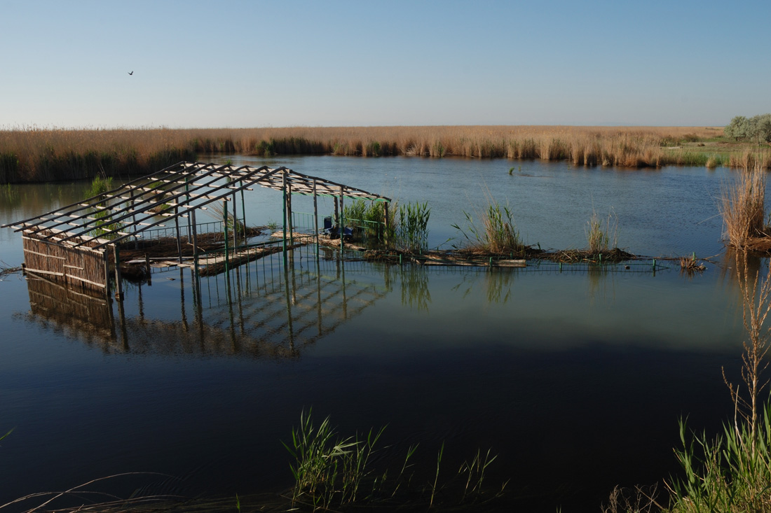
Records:
[[[771,269],[765,278],[749,271],[746,252],[736,259],[742,292],[743,388],[730,383],[736,414],[715,438],[689,436],[680,423],[682,449],[675,451],[685,473],[670,485],[673,512],[771,511],[771,401],[759,397],[768,383],[763,371],[771,340]]]

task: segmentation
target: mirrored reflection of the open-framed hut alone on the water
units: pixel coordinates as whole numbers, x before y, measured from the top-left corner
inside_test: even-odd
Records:
[[[287,358],[297,357],[303,347],[331,334],[390,290],[346,279],[346,267],[357,263],[322,262],[299,250],[292,252],[287,267],[281,260],[280,255],[266,257],[217,277],[196,279],[193,270],[170,272],[175,276],[167,280],[179,283],[181,310],[170,319],[147,314],[145,301],[153,298],[143,295],[141,284],[136,286],[136,314],[126,315],[125,302],[107,303],[104,297],[30,277],[30,317],[53,321],[57,329],[67,327],[86,344],[100,344],[109,352]],[[426,279],[420,296],[426,297],[427,290]],[[191,298],[192,322],[187,313]]]

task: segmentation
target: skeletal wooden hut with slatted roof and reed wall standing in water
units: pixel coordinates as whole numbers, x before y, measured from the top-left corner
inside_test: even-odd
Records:
[[[166,227],[175,234],[178,262],[183,262],[183,244],[192,246],[192,258],[197,261],[196,213],[213,203],[222,212],[224,270],[227,270],[227,263],[231,261],[229,252],[237,246],[236,232],[239,226],[246,226],[244,193],[255,186],[283,193],[284,259],[293,242],[292,195],[314,197],[317,242],[318,196],[332,196],[335,211],[339,209],[340,213],[345,198],[382,201],[386,213],[391,201],[385,196],[283,166],[180,162],[78,203],[2,227],[22,232],[26,271],[105,294],[109,294],[114,273],[118,287],[116,297],[120,298],[121,248],[132,245],[136,248],[146,242],[150,230]],[[340,223],[344,226],[344,220]]]

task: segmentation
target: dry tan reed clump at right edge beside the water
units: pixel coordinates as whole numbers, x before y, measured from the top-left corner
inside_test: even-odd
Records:
[[[756,161],[744,167],[730,184],[723,185],[720,213],[723,236],[736,248],[744,248],[750,238],[763,233],[766,201],[766,173]]]

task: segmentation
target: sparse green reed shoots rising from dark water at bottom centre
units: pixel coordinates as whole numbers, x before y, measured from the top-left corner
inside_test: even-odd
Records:
[[[334,508],[335,511],[389,505],[395,509],[439,508],[440,503],[442,507],[449,503],[455,507],[482,505],[503,495],[507,483],[500,488],[486,485],[487,469],[497,458],[490,450],[484,453],[477,450],[473,458],[463,461],[453,474],[443,470],[445,445],[442,444],[433,471],[420,473],[421,477],[416,478],[418,469],[412,462],[418,446],[410,446],[401,461],[390,464],[382,454],[385,448],[380,446],[384,431],[385,428],[370,429],[365,436],[355,434],[342,438],[332,428],[329,417],[316,426],[311,413],[303,412],[300,425],[292,430],[291,443],[284,443],[293,458],[291,472],[295,485],[291,500],[294,505],[306,505],[314,510]],[[377,469],[375,462],[379,464]]]

